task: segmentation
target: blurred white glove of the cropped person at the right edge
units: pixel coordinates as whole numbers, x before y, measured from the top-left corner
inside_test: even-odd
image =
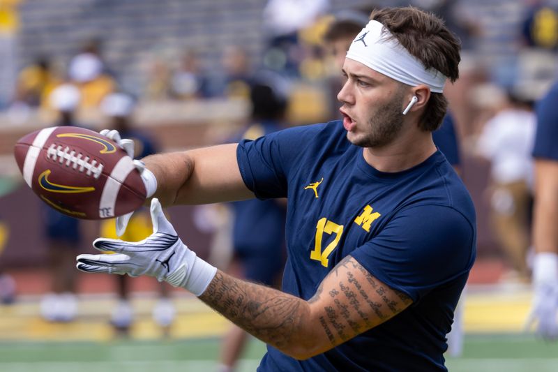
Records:
[[[527,317],[527,328],[536,323],[536,334],[558,338],[558,255],[537,253],[533,262],[534,297]]]

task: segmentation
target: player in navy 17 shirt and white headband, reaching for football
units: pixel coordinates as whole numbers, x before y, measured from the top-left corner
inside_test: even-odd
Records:
[[[469,193],[431,134],[446,111],[444,82],[458,77],[459,43],[416,8],[370,18],[347,52],[343,121],[145,158],[153,235],[97,239],[121,254],[80,255],[78,269],[190,290],[268,344],[259,371],[445,371],[476,239]],[[254,196],[288,200],[282,291],[197,258],[157,199]]]

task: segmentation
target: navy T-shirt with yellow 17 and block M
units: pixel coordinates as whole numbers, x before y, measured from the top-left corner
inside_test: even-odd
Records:
[[[352,255],[414,302],[304,361],[268,346],[259,371],[445,371],[445,336],[476,252],[474,206],[446,158],[379,172],[341,121],[243,141],[237,158],[257,198],[288,198],[282,290],[310,299]]]

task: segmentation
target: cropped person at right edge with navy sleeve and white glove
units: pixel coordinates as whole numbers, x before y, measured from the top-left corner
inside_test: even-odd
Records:
[[[534,297],[527,324],[536,333],[558,338],[558,83],[536,107],[535,204],[533,209]]]

